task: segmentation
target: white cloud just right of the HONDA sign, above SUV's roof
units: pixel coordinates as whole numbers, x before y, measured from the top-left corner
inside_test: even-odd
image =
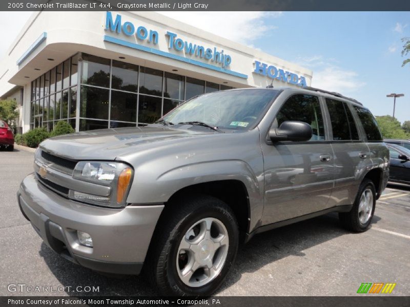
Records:
[[[313,87],[350,95],[366,85],[357,72],[341,68],[334,58],[324,58],[321,55],[299,56],[295,61],[313,70]]]

